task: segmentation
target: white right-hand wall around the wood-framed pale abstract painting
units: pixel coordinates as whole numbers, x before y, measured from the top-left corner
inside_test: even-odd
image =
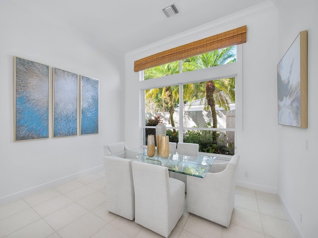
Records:
[[[276,61],[283,57],[299,32],[308,30],[308,128],[279,126],[277,131],[280,138],[278,194],[303,238],[318,236],[317,9],[316,0],[281,0],[278,8],[279,51]]]

